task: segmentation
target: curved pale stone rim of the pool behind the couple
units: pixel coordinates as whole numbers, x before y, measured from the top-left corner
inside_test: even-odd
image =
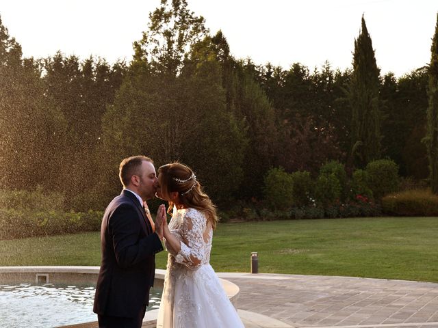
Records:
[[[69,282],[88,282],[96,283],[99,275],[100,267],[86,266],[23,266],[23,267],[0,267],[0,283],[2,279],[27,279],[32,282],[53,283],[59,280]],[[162,286],[166,270],[155,269],[154,286]],[[40,281],[42,279],[43,281]],[[237,299],[240,288],[229,280],[219,278],[227,296],[229,297],[234,308],[237,310]],[[146,312],[143,320],[143,328],[155,328],[157,323],[158,310],[150,310]],[[97,328],[97,321],[89,323],[80,323],[76,325],[62,326],[64,328]]]

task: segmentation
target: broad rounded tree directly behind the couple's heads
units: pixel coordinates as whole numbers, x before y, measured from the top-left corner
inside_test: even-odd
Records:
[[[157,90],[142,87],[144,81]],[[127,78],[105,113],[103,142],[113,170],[120,158],[141,153],[157,165],[190,165],[216,201],[229,200],[240,186],[245,141],[225,109],[218,77],[181,75],[166,85],[161,77]]]

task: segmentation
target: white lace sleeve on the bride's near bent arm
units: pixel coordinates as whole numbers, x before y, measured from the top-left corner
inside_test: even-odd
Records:
[[[205,216],[201,213],[188,213],[183,221],[181,250],[175,260],[192,270],[201,267],[206,255],[205,225]]]

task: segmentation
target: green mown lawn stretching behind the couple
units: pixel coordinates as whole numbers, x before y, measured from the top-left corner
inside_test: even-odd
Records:
[[[375,217],[221,223],[211,265],[248,272],[438,282],[438,218]],[[99,232],[0,241],[0,266],[100,264]],[[157,254],[165,269],[166,252]]]

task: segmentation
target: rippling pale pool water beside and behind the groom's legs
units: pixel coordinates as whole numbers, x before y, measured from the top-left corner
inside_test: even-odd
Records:
[[[0,285],[1,328],[51,328],[96,321],[94,286]],[[152,288],[147,310],[159,308],[162,290]]]

